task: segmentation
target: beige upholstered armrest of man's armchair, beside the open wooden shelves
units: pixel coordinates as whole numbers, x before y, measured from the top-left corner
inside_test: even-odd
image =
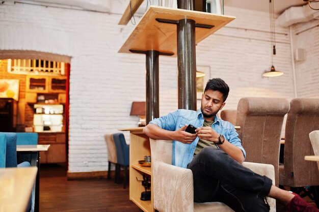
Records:
[[[194,211],[193,173],[164,162],[153,162],[154,208],[158,211]]]

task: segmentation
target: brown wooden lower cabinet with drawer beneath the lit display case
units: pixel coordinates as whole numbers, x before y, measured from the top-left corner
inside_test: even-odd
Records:
[[[38,144],[50,144],[47,151],[40,152],[41,163],[66,163],[65,133],[38,133]]]

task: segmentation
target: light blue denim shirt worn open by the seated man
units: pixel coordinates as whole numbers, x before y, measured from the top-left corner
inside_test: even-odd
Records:
[[[150,122],[150,124],[155,124],[158,127],[169,131],[176,131],[185,124],[191,124],[194,127],[199,128],[203,126],[203,123],[204,117],[200,109],[198,111],[179,109],[165,116],[154,118]],[[223,135],[227,141],[240,148],[246,158],[245,149],[243,148],[241,140],[238,138],[238,133],[232,124],[218,118],[216,115],[211,128],[218,134]],[[198,140],[199,138],[196,137],[196,139],[190,144],[173,141],[172,164],[186,168],[193,160]]]

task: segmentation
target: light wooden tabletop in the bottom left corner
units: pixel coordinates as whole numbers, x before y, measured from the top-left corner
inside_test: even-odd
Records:
[[[0,211],[25,211],[37,170],[37,167],[0,169]]]

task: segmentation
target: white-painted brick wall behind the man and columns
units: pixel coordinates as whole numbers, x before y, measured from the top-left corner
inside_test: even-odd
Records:
[[[270,34],[258,30],[269,31],[268,13],[229,7],[225,11],[237,19],[199,43],[196,55],[197,65],[210,66],[211,77],[221,77],[230,85],[226,109],[236,109],[242,97],[293,98],[289,36],[277,36],[274,58],[276,69],[285,74],[262,78],[271,67],[271,46]],[[137,126],[138,117],[129,112],[132,101],[145,100],[145,55],[117,53],[127,31],[117,25],[120,17],[7,2],[0,5],[1,50],[72,57],[70,172],[107,170],[103,134]],[[286,28],[276,31],[288,34]],[[177,109],[177,58],[160,56],[159,69],[159,112],[164,115]],[[129,141],[129,134],[124,135]]]

